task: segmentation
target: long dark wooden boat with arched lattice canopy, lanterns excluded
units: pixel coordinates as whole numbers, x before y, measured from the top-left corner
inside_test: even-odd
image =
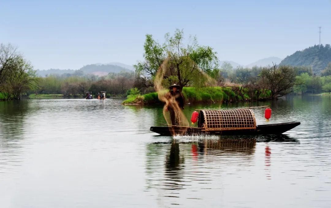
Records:
[[[186,126],[152,126],[151,131],[161,135],[266,135],[282,134],[300,122],[256,125],[255,115],[250,109],[236,110],[201,110],[198,127]]]

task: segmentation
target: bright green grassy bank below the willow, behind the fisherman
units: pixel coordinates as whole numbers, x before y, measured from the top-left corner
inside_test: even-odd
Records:
[[[270,97],[270,90],[253,90],[243,87],[183,87],[182,93],[186,103],[216,103],[243,102],[264,100]],[[154,104],[161,103],[157,92],[141,95],[138,90],[131,89],[123,104]]]

